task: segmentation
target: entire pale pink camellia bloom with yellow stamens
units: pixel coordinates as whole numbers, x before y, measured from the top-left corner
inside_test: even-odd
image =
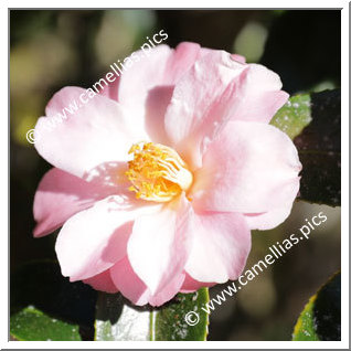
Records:
[[[61,89],[35,127],[54,168],[35,194],[34,236],[62,226],[62,274],[153,306],[236,279],[251,230],[281,223],[299,189],[297,150],[268,125],[288,98],[278,75],[160,45],[47,131],[84,92]]]

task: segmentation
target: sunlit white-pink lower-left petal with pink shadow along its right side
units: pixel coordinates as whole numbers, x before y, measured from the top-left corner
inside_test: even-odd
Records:
[[[114,195],[72,216],[56,241],[62,274],[82,280],[110,268],[126,255],[135,219],[155,209],[159,206]]]

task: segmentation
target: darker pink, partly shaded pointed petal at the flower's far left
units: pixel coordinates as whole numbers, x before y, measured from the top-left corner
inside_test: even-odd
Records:
[[[116,192],[116,188],[86,182],[57,168],[51,169],[35,192],[34,236],[52,233],[75,213]]]

